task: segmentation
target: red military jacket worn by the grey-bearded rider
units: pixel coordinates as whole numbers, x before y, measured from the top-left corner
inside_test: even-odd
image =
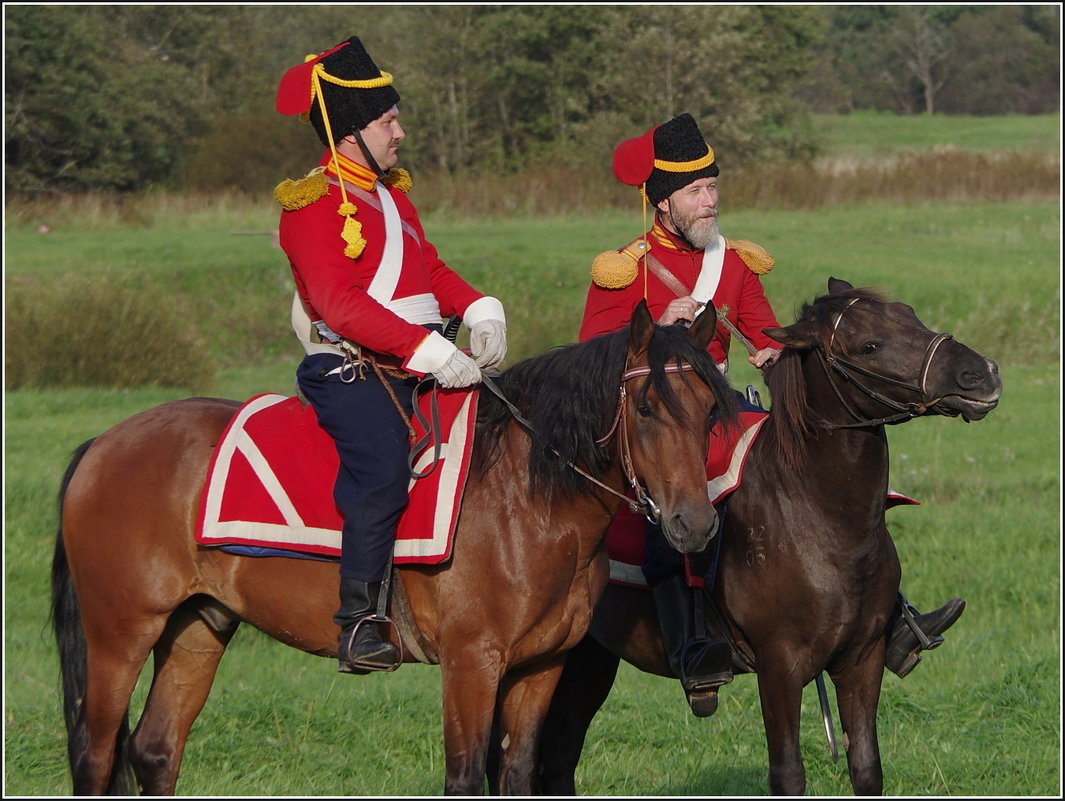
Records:
[[[646,241],[650,244],[651,255],[676,276],[691,294],[703,269],[704,251],[692,250],[687,243],[667,231],[657,220],[648,232]],[[761,332],[763,328],[775,328],[780,324],[766,298],[760,277],[748,266],[732,242],[725,240],[724,248],[720,277],[712,292],[715,307],[719,313],[727,310],[728,321],[759,350],[765,347],[781,347],[779,342]],[[771,261],[768,263],[771,266]],[[635,280],[624,287],[608,289],[593,280],[585,303],[580,341],[617,331],[628,325],[633,310],[644,297],[644,284],[648,309],[652,318],[658,320],[677,294],[663,283],[654,271],[648,271],[643,259],[636,264]],[[697,299],[705,300],[700,297]],[[728,330],[719,323],[708,348],[717,364],[725,361],[731,341]]]

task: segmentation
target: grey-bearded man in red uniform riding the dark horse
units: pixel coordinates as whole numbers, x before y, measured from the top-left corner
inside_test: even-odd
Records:
[[[718,230],[719,167],[692,116],[681,114],[621,143],[615,150],[613,171],[622,183],[640,187],[654,207],[655,219],[644,236],[601,254],[592,263],[579,339],[628,325],[643,298],[659,325],[690,323],[712,303],[719,316],[748,340],[752,352],[748,361],[758,369],[773,364],[781,345],[763,329],[779,323],[760,279],[773,260],[759,246],[725,239]],[[730,343],[727,327],[719,325],[709,353],[722,372],[727,372]],[[730,649],[698,631],[695,604],[701,601],[688,586],[681,555],[655,527],[649,529],[646,545],[643,574],[655,599],[666,652],[692,709],[700,714],[699,699],[732,680]],[[939,644],[943,632],[964,608],[964,601],[952,599],[919,615],[900,593],[900,618],[885,657],[888,669],[906,675],[917,664],[917,654]],[[928,638],[924,642],[914,626]],[[709,708],[705,714],[712,714],[716,705]]]

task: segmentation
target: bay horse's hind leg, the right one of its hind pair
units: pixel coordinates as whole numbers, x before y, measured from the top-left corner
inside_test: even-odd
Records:
[[[130,739],[130,763],[142,795],[174,795],[189,731],[236,626],[234,621],[215,631],[189,604],[167,621],[155,644],[151,690]]]

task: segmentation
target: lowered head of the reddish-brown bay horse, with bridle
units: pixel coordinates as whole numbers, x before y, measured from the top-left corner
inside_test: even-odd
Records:
[[[716,324],[710,306],[690,328],[657,326],[641,300],[633,314],[622,375],[618,426],[623,468],[645,513],[681,553],[702,551],[719,525],[706,493],[710,414],[721,405],[719,413],[733,415],[735,400],[706,350]]]

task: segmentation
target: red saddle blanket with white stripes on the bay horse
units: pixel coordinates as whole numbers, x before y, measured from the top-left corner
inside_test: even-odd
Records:
[[[431,394],[419,398],[432,420]],[[439,431],[412,459],[424,478],[410,481],[399,519],[396,562],[436,565],[450,556],[452,538],[469,472],[477,392],[436,393]],[[426,427],[411,420],[421,445]],[[265,394],[244,404],[215,448],[200,500],[196,541],[250,545],[339,557],[342,518],[332,498],[340,458],[314,409],[296,397]]]

